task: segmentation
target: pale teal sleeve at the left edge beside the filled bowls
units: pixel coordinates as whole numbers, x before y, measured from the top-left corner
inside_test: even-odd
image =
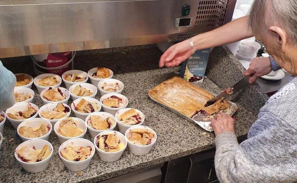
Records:
[[[0,61],[0,111],[13,106],[13,89],[16,84],[16,77],[11,71],[7,70]]]

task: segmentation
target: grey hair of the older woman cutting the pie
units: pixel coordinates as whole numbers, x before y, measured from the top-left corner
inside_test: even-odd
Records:
[[[248,18],[249,28],[255,35],[263,29],[279,26],[285,29],[288,37],[297,43],[297,2],[296,0],[254,0]]]

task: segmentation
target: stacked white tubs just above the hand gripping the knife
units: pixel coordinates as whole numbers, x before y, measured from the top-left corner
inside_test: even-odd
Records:
[[[253,40],[242,40],[239,44],[236,58],[238,60],[251,61],[257,57],[257,52],[261,48],[261,45]]]

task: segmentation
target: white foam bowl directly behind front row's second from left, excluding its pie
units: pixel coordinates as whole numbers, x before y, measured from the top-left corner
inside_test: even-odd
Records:
[[[86,125],[85,121],[83,121],[83,120],[81,120],[81,119],[79,119],[77,117],[72,117],[72,118],[77,121],[77,127],[82,129],[83,133],[81,135],[79,135],[79,136],[76,136],[76,137],[65,137],[63,135],[60,135],[58,133],[58,129],[59,129],[59,124],[60,124],[61,120],[63,120],[63,119],[58,120],[57,123],[54,125],[54,131],[55,131],[55,134],[57,135],[60,143],[63,143],[66,140],[69,140],[69,139],[72,139],[72,138],[83,138],[85,136],[86,132],[87,132],[87,125]]]

